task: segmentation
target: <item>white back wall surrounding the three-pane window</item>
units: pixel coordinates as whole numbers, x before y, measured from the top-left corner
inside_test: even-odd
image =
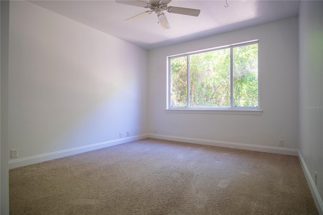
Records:
[[[251,150],[297,153],[298,19],[290,18],[148,51],[150,133],[159,138],[206,142]],[[259,39],[259,101],[261,116],[165,113],[167,56]],[[201,141],[199,141],[201,140]],[[227,144],[235,143],[235,145]],[[240,146],[239,146],[240,144]],[[263,147],[252,147],[250,144]]]

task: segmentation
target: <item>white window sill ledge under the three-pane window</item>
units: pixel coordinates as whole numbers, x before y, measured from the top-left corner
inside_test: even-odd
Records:
[[[262,110],[254,109],[254,110],[233,110],[233,109],[225,109],[225,110],[210,110],[210,109],[166,109],[166,113],[170,114],[234,114],[234,115],[262,115]]]

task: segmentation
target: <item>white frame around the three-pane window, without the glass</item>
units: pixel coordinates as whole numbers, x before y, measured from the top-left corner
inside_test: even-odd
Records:
[[[258,106],[233,106],[233,48],[257,44],[258,46]],[[190,103],[190,55],[196,55],[198,53],[220,50],[230,48],[230,106],[228,107],[189,107]],[[186,106],[171,106],[171,59],[186,57],[187,62],[187,101]],[[203,113],[203,114],[247,114],[247,115],[261,115],[262,110],[260,109],[260,98],[259,98],[259,40],[251,40],[247,42],[235,43],[230,45],[218,46],[214,48],[208,48],[198,51],[191,51],[182,53],[179,55],[173,55],[167,57],[167,113]]]

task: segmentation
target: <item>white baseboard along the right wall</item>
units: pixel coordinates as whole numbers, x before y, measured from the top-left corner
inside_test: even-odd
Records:
[[[309,171],[308,171],[308,169],[306,167],[306,164],[304,162],[304,159],[302,157],[302,154],[300,152],[298,152],[298,157],[299,157],[299,160],[300,160],[300,163],[301,163],[305,178],[307,180],[308,187],[309,187],[309,189],[310,189],[310,191],[312,193],[312,197],[314,199],[317,211],[318,211],[319,214],[322,215],[323,214],[323,201],[322,201],[321,197],[318,194],[318,190],[317,190],[317,188],[315,186],[313,178],[311,177],[311,174],[309,173]]]

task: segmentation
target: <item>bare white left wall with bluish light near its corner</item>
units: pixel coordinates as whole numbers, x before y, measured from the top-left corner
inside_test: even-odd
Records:
[[[24,1],[9,29],[10,168],[147,133],[145,49]]]

